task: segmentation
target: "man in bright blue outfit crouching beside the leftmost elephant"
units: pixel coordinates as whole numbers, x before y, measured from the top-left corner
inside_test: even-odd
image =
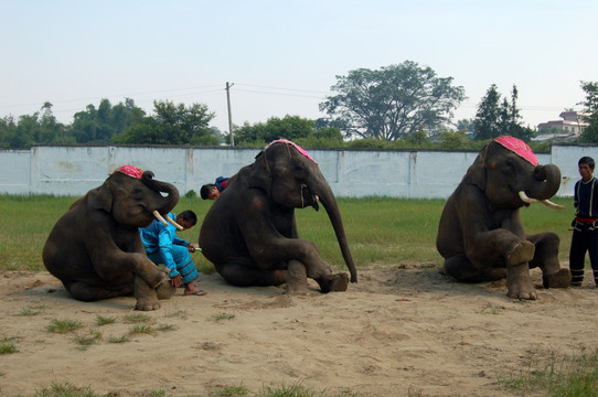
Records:
[[[193,211],[183,211],[177,216],[173,213],[168,215],[171,219],[175,219],[183,230],[197,223],[197,216]],[[196,247],[177,237],[175,226],[171,224],[167,226],[159,221],[153,221],[148,227],[139,230],[148,258],[157,265],[164,265],[174,287],[184,286],[185,296],[205,294],[194,282],[200,273],[190,253],[194,253]]]

